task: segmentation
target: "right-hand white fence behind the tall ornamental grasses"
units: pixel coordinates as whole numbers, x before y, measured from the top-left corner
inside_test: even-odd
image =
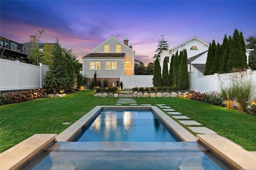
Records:
[[[252,79],[256,85],[256,71],[246,71],[244,74],[251,74],[248,78]],[[238,73],[225,73],[225,74],[214,74],[214,75],[204,75],[196,77],[196,71],[189,72],[189,89],[194,91],[199,91],[200,93],[206,93],[210,91],[220,91],[220,83],[225,83],[226,85],[230,83],[231,76],[240,76]],[[221,80],[221,82],[220,82]],[[254,97],[256,94],[254,94]]]

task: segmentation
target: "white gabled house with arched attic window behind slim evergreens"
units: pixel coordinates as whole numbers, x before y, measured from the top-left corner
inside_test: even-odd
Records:
[[[187,50],[188,72],[198,70],[198,76],[204,75],[209,43],[198,37],[193,37],[190,40],[187,40],[186,42],[177,45],[176,47],[162,51],[159,57],[161,69],[163,69],[164,58],[167,57],[169,70],[172,54],[175,55],[176,51],[178,51],[178,53],[180,54],[180,51],[182,51],[182,49]]]

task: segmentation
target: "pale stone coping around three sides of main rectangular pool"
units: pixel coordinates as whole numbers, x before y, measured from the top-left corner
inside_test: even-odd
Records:
[[[90,121],[102,110],[102,109],[135,109],[135,110],[152,110],[156,116],[174,132],[174,134],[184,142],[196,142],[196,136],[190,133],[186,128],[182,127],[179,123],[174,121],[171,117],[166,115],[161,109],[156,106],[96,106],[89,111],[86,115],[61,132],[57,136],[58,142],[70,142],[78,133],[82,131],[82,128],[88,125]]]

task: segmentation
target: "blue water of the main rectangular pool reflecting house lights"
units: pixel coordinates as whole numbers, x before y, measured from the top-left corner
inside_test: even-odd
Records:
[[[180,140],[151,110],[102,110],[73,141],[173,142]]]

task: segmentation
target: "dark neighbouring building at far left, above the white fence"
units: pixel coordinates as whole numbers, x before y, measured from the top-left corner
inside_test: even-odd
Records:
[[[17,43],[6,38],[1,37],[0,43],[1,58],[4,59],[19,59],[28,62],[28,54],[24,51],[24,45]]]

